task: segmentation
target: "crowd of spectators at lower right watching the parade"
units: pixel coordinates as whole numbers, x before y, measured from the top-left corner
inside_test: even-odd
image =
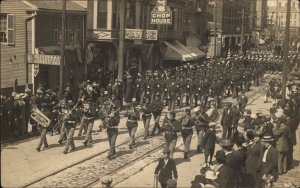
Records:
[[[251,109],[245,105],[245,110],[237,116],[234,114],[232,104],[227,103],[221,117],[221,138],[216,137],[215,122],[203,121],[207,114],[200,111],[201,116],[198,116],[199,113],[194,115],[196,130],[200,126],[203,126],[204,130],[200,135],[197,134],[200,139],[197,151],[204,154],[205,163],[200,167],[200,174],[191,182],[192,188],[272,187],[281,175],[294,167],[293,147],[297,144],[300,94],[299,88],[290,88],[287,98],[283,98],[280,93],[277,95],[272,93],[274,103],[267,114],[251,113]],[[238,106],[239,104],[241,103],[238,102]],[[239,131],[237,124],[240,126]],[[215,144],[219,144],[222,148],[216,153],[214,153]],[[155,170],[162,187],[176,187],[176,179],[180,174],[173,164],[173,149],[174,147],[167,145],[164,160],[159,161]],[[169,167],[166,164],[168,160],[171,161]],[[157,175],[160,170],[161,173]],[[297,187],[293,182],[289,184],[291,187]]]

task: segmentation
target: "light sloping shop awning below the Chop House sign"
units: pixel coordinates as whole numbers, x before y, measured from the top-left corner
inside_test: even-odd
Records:
[[[167,45],[167,50],[163,60],[191,61],[197,59],[197,54],[178,41],[164,41],[164,43]]]

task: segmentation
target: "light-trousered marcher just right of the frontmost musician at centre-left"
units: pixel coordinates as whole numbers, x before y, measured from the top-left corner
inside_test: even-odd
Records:
[[[132,104],[131,105],[131,110],[127,111],[127,122],[126,122],[126,127],[128,129],[130,141],[129,141],[129,149],[132,149],[136,143],[135,143],[135,133],[138,127],[138,120],[140,119],[140,114],[135,108],[135,106]]]

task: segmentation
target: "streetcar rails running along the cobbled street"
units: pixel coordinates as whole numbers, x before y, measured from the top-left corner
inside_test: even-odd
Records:
[[[264,79],[267,79],[267,78],[270,77],[270,76],[271,76],[271,74],[270,74],[270,75],[267,75]],[[265,80],[262,81],[262,83],[264,83],[264,82],[266,82],[266,81],[265,81]],[[261,85],[262,85],[262,84],[261,84]],[[248,96],[248,98],[252,98],[253,96],[255,96],[256,94],[258,94],[258,93],[260,93],[260,92],[261,92],[261,89],[258,89],[256,92],[254,92],[253,94],[251,94],[250,96]],[[262,92],[262,95],[264,95],[263,92]],[[247,105],[252,104],[256,99],[258,99],[258,98],[261,97],[262,95],[259,95],[258,97],[255,97],[255,98],[252,99],[251,102],[248,103]],[[179,112],[182,112],[182,110],[183,110],[183,109],[179,109],[178,111],[179,111]],[[222,109],[219,109],[218,111],[220,112],[220,111],[222,111]],[[163,112],[163,113],[168,113],[168,112],[165,111],[165,112]],[[121,128],[121,129],[126,129],[126,128]],[[138,136],[136,137],[136,139],[141,138],[142,136],[143,136],[143,132],[141,131],[141,132],[140,132],[140,135],[138,135]],[[178,138],[181,138],[181,136],[178,137]],[[194,136],[193,136],[193,138],[194,138]],[[119,148],[119,147],[121,147],[121,146],[123,146],[123,145],[125,145],[125,144],[127,144],[127,143],[129,143],[129,140],[128,140],[128,139],[125,139],[125,141],[123,141],[122,143],[116,145],[116,148]],[[155,153],[156,151],[158,151],[159,149],[161,149],[164,145],[165,145],[165,144],[159,145],[158,147],[155,147],[154,149],[151,149],[150,151],[146,152],[146,154],[144,154],[144,155],[142,155],[142,156],[140,156],[140,157],[138,157],[138,158],[136,158],[136,159],[134,159],[134,160],[131,160],[131,161],[127,162],[125,165],[122,165],[122,166],[116,168],[116,169],[113,170],[112,172],[106,173],[105,175],[101,176],[100,178],[97,178],[95,181],[92,181],[92,182],[88,183],[86,187],[90,187],[90,186],[92,186],[92,185],[97,184],[97,183],[101,180],[101,178],[104,177],[104,176],[107,176],[107,175],[113,175],[113,174],[115,174],[115,173],[117,173],[117,172],[119,172],[119,171],[121,171],[121,170],[123,170],[123,169],[126,169],[126,168],[127,168],[128,166],[130,166],[131,164],[133,164],[133,163],[135,163],[135,162],[137,162],[137,161],[140,161],[141,159],[147,157],[149,154]],[[178,147],[176,147],[176,149],[178,149],[178,148],[181,147],[182,145],[183,145],[183,143],[182,143],[181,145],[179,145]],[[49,174],[47,174],[47,175],[44,175],[44,176],[42,176],[42,177],[39,177],[39,178],[37,178],[37,179],[35,179],[35,180],[29,182],[29,183],[26,183],[25,185],[23,185],[23,186],[21,186],[21,187],[29,187],[29,186],[31,186],[31,185],[34,185],[34,184],[36,184],[36,183],[38,183],[38,182],[41,182],[42,180],[44,180],[44,179],[46,179],[46,178],[48,178],[48,177],[50,177],[50,176],[54,176],[54,175],[56,175],[56,174],[58,174],[58,173],[61,173],[61,172],[65,171],[65,170],[71,168],[71,167],[74,167],[74,166],[79,165],[79,164],[81,164],[81,163],[84,163],[85,161],[88,161],[88,160],[90,160],[90,159],[92,159],[92,158],[95,158],[95,157],[100,156],[100,155],[102,155],[102,154],[104,154],[104,153],[107,153],[109,150],[110,150],[110,149],[106,149],[106,150],[101,151],[101,152],[99,152],[99,153],[96,153],[96,154],[93,154],[93,155],[91,155],[91,156],[88,156],[88,157],[86,157],[86,158],[84,158],[84,159],[81,159],[81,160],[79,160],[79,161],[77,161],[77,162],[74,162],[74,163],[72,163],[72,164],[70,164],[70,165],[67,165],[67,166],[65,166],[65,167],[63,167],[63,168],[61,168],[61,169],[55,170],[54,172],[51,172],[51,173],[49,173]],[[118,156],[117,156],[117,157],[118,157]],[[157,160],[158,160],[158,159],[157,159]],[[157,160],[154,160],[154,161],[157,161]],[[149,164],[148,164],[148,165],[149,165]],[[146,166],[147,166],[147,165],[146,165]],[[122,181],[120,181],[120,182],[122,182]],[[120,183],[120,182],[118,182],[118,183]],[[117,183],[117,184],[118,184],[118,183]]]

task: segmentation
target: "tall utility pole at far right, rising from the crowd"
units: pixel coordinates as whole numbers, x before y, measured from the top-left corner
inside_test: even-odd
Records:
[[[286,25],[285,25],[285,39],[284,39],[284,51],[283,51],[283,74],[282,74],[282,96],[286,97],[286,82],[288,77],[288,53],[290,43],[290,17],[291,17],[291,0],[287,2],[287,14],[286,14]]]

